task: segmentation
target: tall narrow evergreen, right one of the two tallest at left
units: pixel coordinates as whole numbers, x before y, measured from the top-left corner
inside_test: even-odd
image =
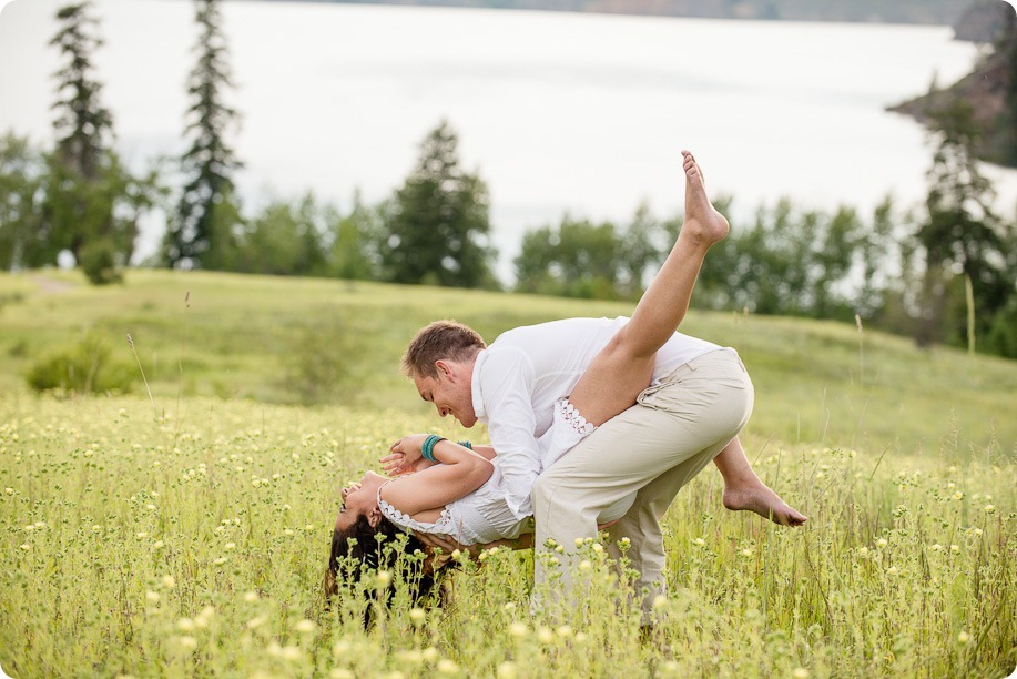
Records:
[[[191,146],[181,159],[186,180],[163,253],[173,267],[217,268],[233,260],[224,251],[240,229],[232,174],[241,163],[225,140],[238,116],[223,101],[232,81],[218,0],[195,0],[195,8],[197,64],[187,81],[192,103],[185,130]]]

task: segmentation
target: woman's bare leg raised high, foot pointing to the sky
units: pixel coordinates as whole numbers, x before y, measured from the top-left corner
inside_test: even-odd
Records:
[[[650,384],[657,351],[668,342],[689,310],[692,288],[706,251],[728,235],[728,220],[706,197],[695,159],[682,151],[685,221],[678,241],[643,293],[629,323],[593,358],[569,401],[594,425],[635,403]]]

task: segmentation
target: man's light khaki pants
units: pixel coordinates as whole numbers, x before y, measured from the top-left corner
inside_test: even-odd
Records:
[[[571,589],[577,538],[597,537],[597,516],[638,490],[629,511],[608,530],[611,545],[631,540],[635,591],[649,612],[663,594],[660,519],[674,496],[733,439],[752,413],[753,388],[734,349],[716,349],[675,368],[639,395],[637,404],[601,425],[545,470],[533,486],[536,589],[547,580],[545,544],[553,538],[562,594]],[[553,568],[553,566],[551,567]],[[538,602],[539,605],[539,602]]]

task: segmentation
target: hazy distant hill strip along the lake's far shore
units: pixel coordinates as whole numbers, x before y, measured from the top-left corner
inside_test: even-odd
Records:
[[[321,0],[319,0],[321,1]],[[783,21],[864,21],[953,26],[963,0],[324,0]]]

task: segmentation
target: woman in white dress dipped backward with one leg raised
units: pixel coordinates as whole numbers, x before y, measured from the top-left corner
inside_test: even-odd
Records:
[[[705,196],[695,160],[688,152],[682,155],[687,219],[678,241],[631,320],[600,351],[571,393],[558,401],[553,424],[539,442],[542,459],[557,459],[635,403],[650,383],[658,349],[672,338],[684,317],[706,251],[728,234],[728,221]],[[743,455],[736,438],[721,456],[728,454]],[[416,434],[396,442],[382,462],[395,478],[368,472],[360,483],[342,491],[344,507],[335,524],[332,572],[349,554],[345,545],[362,517],[375,529],[394,524],[407,531],[451,536],[460,545],[516,540],[532,530],[531,520],[520,520],[509,510],[497,457],[489,446],[471,449],[469,444]],[[416,473],[404,475],[406,470]],[[598,523],[623,516],[632,499],[616,503]],[[787,510],[799,523],[801,515]]]

